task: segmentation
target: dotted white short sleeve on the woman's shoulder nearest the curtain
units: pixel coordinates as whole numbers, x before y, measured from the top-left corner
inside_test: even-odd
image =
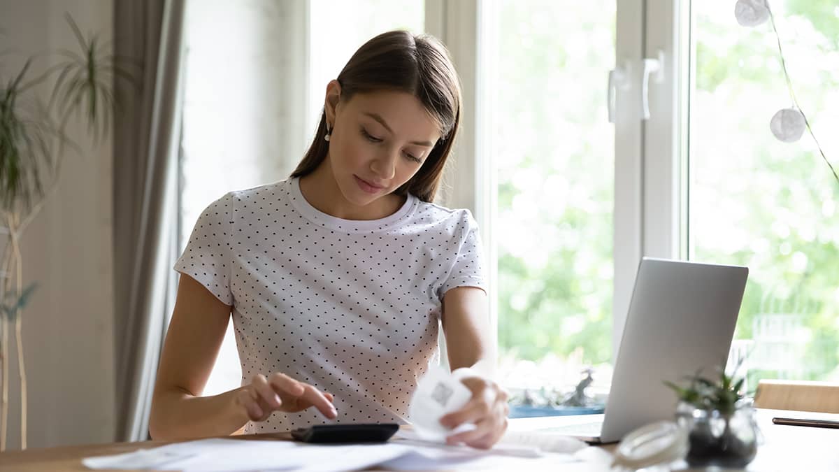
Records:
[[[190,275],[222,303],[233,304],[230,290],[233,192],[206,207],[195,222],[184,254],[175,261],[175,270]]]

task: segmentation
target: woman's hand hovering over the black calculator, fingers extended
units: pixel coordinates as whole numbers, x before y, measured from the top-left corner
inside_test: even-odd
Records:
[[[323,416],[335,419],[338,412],[332,400],[331,393],[321,392],[280,372],[268,377],[253,375],[251,383],[243,385],[233,396],[237,412],[253,422],[263,422],[273,412],[302,412],[310,406],[315,406]]]

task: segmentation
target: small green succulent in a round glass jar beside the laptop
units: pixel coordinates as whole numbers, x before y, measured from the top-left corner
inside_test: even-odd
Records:
[[[754,408],[743,389],[745,376],[726,375],[717,380],[699,373],[688,377],[687,387],[664,382],[676,392],[676,422],[688,431],[691,467],[743,467],[758,454],[758,425]]]

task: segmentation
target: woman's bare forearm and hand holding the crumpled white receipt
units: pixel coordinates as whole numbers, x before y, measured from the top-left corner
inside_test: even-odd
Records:
[[[443,333],[449,351],[451,370],[471,367],[478,361],[494,366],[496,349],[492,342],[487,294],[477,287],[457,287],[443,297]],[[491,448],[507,430],[507,392],[492,379],[472,373],[461,379],[472,391],[472,400],[461,410],[440,418],[445,427],[464,422],[475,429],[446,438],[450,444],[466,443],[475,448]]]

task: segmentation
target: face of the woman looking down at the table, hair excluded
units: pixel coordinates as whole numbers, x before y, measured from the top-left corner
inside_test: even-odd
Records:
[[[409,181],[440,138],[440,128],[422,103],[405,92],[357,93],[336,100],[330,83],[326,120],[331,123],[331,170],[348,202],[365,206]]]

